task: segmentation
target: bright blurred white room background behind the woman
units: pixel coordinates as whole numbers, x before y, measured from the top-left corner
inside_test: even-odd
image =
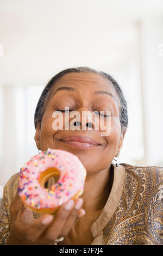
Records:
[[[57,72],[108,72],[128,103],[119,163],[163,166],[163,1],[0,0],[0,197],[38,153],[34,112]]]

